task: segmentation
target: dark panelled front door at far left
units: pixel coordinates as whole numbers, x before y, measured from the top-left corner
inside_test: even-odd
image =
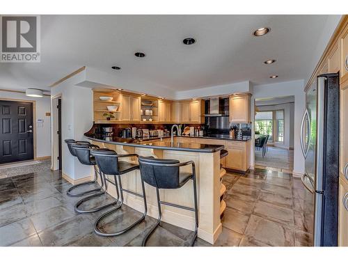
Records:
[[[33,104],[0,100],[0,164],[34,158]]]

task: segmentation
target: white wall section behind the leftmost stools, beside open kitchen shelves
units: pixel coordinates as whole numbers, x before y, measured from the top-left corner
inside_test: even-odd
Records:
[[[84,72],[64,81],[51,90],[51,95],[61,95],[62,100],[62,171],[72,180],[90,175],[90,167],[72,157],[65,139],[86,140],[84,133],[93,125],[93,92],[90,88],[76,86],[84,79]]]

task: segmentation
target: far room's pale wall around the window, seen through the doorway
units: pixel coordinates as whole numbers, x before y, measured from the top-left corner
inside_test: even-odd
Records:
[[[276,147],[281,148],[293,148],[290,146],[290,139],[294,141],[294,119],[291,122],[290,106],[294,106],[293,103],[269,105],[269,106],[257,106],[259,111],[275,111],[284,110],[284,143],[275,143]],[[292,136],[292,137],[291,137]],[[293,146],[294,144],[292,144]]]

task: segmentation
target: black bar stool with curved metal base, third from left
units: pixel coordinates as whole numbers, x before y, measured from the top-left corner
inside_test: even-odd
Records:
[[[106,212],[100,216],[97,221],[95,221],[94,225],[94,231],[97,233],[97,235],[100,235],[102,237],[113,237],[117,235],[121,235],[124,232],[127,232],[137,224],[141,223],[145,219],[146,213],[148,212],[148,207],[146,205],[146,197],[145,197],[145,185],[143,182],[143,179],[141,179],[141,188],[143,190],[143,195],[140,193],[136,193],[134,191],[130,191],[128,189],[122,188],[122,182],[121,182],[121,175],[124,175],[126,173],[129,173],[130,171],[134,171],[136,169],[139,169],[138,164],[132,164],[127,161],[119,161],[118,159],[124,158],[124,157],[138,157],[136,154],[128,154],[128,155],[118,155],[114,150],[91,150],[91,154],[95,157],[95,161],[97,162],[97,166],[100,169],[100,171],[104,175],[113,175],[114,183],[116,186],[116,191],[117,191],[117,198],[120,199],[120,205],[115,207],[114,209],[111,209],[109,212]],[[117,179],[116,179],[117,177]],[[113,212],[116,212],[120,207],[123,205],[123,192],[130,193],[135,196],[139,196],[143,198],[144,202],[144,212],[143,216],[141,216],[140,219],[136,220],[134,223],[131,225],[127,226],[127,228],[124,228],[122,230],[116,231],[116,232],[102,232],[99,227],[100,221],[102,219],[106,218],[106,216],[109,216]]]

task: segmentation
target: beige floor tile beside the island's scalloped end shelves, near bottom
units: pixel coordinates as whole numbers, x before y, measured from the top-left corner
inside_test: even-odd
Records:
[[[244,214],[235,209],[226,209],[223,214],[222,226],[243,234],[250,214]]]

